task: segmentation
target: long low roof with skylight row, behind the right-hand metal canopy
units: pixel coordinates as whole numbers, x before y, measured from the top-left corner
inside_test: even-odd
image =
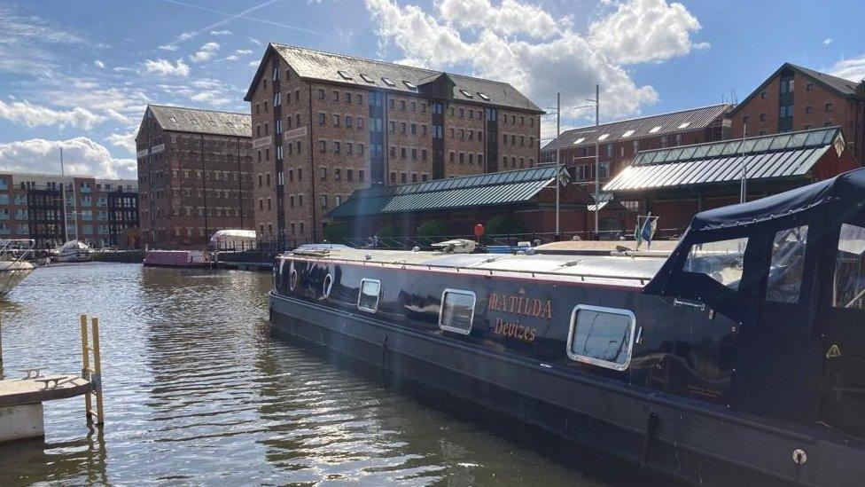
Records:
[[[732,105],[722,103],[721,105],[702,106],[680,112],[602,123],[597,127],[589,125],[579,129],[566,130],[558,137],[549,141],[547,145],[544,145],[541,151],[595,145],[596,142],[609,144],[622,140],[658,137],[690,130],[705,129],[723,119],[724,114],[730,108],[732,108]]]

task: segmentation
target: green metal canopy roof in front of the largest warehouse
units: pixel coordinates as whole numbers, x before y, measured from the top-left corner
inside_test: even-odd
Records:
[[[556,179],[557,170],[566,175],[564,167],[545,166],[357,190],[346,202],[332,209],[328,216],[365,216],[526,203]]]

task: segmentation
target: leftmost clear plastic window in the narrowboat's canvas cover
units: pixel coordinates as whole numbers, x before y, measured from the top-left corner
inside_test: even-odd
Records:
[[[683,271],[705,274],[736,291],[742,280],[744,249],[748,238],[694,244]]]

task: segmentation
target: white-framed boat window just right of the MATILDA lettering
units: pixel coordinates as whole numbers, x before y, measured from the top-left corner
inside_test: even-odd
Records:
[[[580,304],[571,314],[568,357],[578,362],[625,370],[631,361],[636,319],[629,310]]]

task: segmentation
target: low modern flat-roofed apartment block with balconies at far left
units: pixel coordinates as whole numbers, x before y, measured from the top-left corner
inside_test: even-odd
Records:
[[[0,174],[0,239],[33,239],[38,248],[58,247],[66,240],[135,247],[137,237],[134,179]]]

